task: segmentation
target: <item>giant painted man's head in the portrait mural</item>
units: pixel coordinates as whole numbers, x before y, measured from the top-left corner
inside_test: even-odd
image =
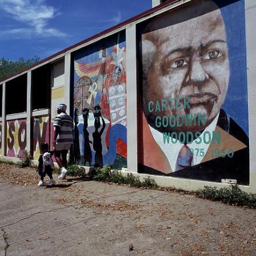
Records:
[[[149,22],[142,35],[143,111],[151,126],[157,116],[205,116],[209,125],[225,101],[229,84],[226,30],[221,11],[199,0]],[[149,101],[186,97],[189,107],[149,111]],[[182,104],[183,101],[181,101]],[[153,107],[153,105],[152,105]],[[159,131],[197,131],[205,126],[159,127]]]

